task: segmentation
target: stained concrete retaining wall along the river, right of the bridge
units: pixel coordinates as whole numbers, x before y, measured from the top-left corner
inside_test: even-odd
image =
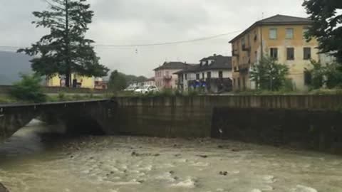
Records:
[[[217,137],[337,152],[342,96],[118,97],[115,130],[152,137]],[[342,150],[341,150],[342,152]]]

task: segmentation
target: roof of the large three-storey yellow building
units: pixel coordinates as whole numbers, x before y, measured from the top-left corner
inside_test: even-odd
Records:
[[[256,26],[266,25],[266,26],[273,26],[273,25],[310,25],[312,23],[311,19],[303,18],[303,17],[296,17],[296,16],[284,16],[284,15],[275,15],[269,18],[264,18],[260,21],[255,22],[252,26],[247,28],[244,32],[240,33],[238,36],[229,41],[232,43],[233,41],[237,40],[241,36],[244,36],[245,33],[250,31],[252,28]]]

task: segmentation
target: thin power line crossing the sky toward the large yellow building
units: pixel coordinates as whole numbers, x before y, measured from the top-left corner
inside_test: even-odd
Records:
[[[165,43],[145,43],[145,44],[130,44],[130,45],[94,44],[93,46],[95,46],[95,47],[107,47],[107,48],[138,48],[138,47],[150,47],[150,46],[170,46],[170,45],[177,45],[177,44],[183,44],[183,43],[194,43],[197,41],[207,41],[207,40],[211,40],[214,38],[219,38],[222,36],[228,36],[228,35],[231,35],[234,33],[239,33],[241,31],[242,30],[232,31],[229,33],[218,34],[215,36],[207,36],[207,37],[195,38],[195,39],[190,39],[190,40],[185,40],[185,41],[170,41],[170,42],[165,42]],[[0,46],[0,48],[16,49],[16,48],[22,48],[22,47],[19,47],[19,46]]]

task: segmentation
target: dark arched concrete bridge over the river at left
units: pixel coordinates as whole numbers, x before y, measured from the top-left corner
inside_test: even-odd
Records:
[[[110,117],[115,109],[116,103],[112,100],[0,105],[0,141],[36,117],[60,124],[67,132],[110,133]]]

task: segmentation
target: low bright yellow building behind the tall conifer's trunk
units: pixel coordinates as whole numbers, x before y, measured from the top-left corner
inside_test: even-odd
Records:
[[[76,81],[77,80],[77,81]],[[76,82],[77,87],[93,89],[95,87],[95,78],[71,74],[71,82]],[[66,82],[63,75],[53,75],[46,78],[46,86],[48,87],[65,87]]]

